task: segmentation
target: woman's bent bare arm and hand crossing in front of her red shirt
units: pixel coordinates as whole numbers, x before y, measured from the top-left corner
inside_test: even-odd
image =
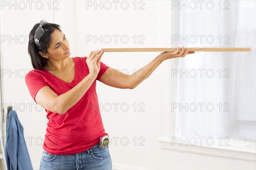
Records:
[[[44,86],[36,94],[35,101],[41,104],[47,111],[59,114],[66,113],[84,96],[96,79],[100,69],[100,59],[103,54],[101,51],[102,50],[90,52],[86,62],[92,72],[84,77],[75,87],[58,96],[49,86]]]

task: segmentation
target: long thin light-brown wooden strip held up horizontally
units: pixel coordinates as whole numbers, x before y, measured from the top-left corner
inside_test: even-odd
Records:
[[[162,52],[176,51],[176,49],[177,48],[103,48],[103,52]],[[250,48],[189,48],[189,51],[250,51]]]

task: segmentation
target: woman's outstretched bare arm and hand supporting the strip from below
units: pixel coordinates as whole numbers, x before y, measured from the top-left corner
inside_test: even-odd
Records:
[[[186,54],[193,54],[189,52],[189,48],[177,48],[174,52],[163,52],[154,58],[150,63],[145,65],[140,70],[131,75],[124,74],[116,69],[108,68],[108,70],[100,77],[100,81],[106,85],[115,88],[136,88],[141,82],[147,79],[153,71],[166,59],[185,57]]]

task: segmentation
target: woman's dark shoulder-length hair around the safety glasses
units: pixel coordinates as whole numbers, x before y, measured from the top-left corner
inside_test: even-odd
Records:
[[[52,32],[54,32],[55,29],[58,29],[59,31],[61,31],[61,29],[60,29],[61,27],[58,24],[53,24],[53,23],[47,23],[47,24],[43,25],[42,28],[44,29],[44,34],[40,38],[39,48],[37,48],[34,36],[35,36],[35,30],[38,28],[40,23],[36,23],[35,26],[32,28],[32,30],[29,33],[28,52],[31,57],[31,62],[32,62],[33,68],[41,70],[44,68],[44,65],[47,64],[47,59],[42,57],[38,52],[41,51],[43,54],[47,53],[47,49],[49,48],[50,42],[51,42]]]

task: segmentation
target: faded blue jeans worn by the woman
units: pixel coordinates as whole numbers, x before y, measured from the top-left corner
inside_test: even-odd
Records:
[[[108,148],[92,148],[73,155],[52,155],[45,150],[42,154],[40,170],[112,170]]]

